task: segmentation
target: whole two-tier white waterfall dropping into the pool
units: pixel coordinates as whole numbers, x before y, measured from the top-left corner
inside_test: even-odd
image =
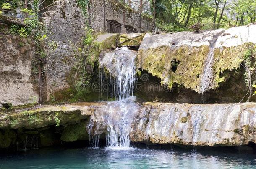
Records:
[[[116,101],[108,102],[104,108],[96,112],[102,114],[104,119],[104,125],[107,128],[106,144],[109,148],[130,147],[130,128],[137,109],[133,96],[136,81],[134,63],[136,55],[136,51],[122,47],[105,53],[99,61],[102,70],[107,70],[110,75],[108,96],[116,99]],[[106,73],[101,73],[101,82],[105,78],[103,74]],[[88,131],[95,132],[93,129],[95,125],[98,125],[97,119],[91,118]]]

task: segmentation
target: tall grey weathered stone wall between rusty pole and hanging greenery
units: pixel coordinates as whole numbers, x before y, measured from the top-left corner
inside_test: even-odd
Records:
[[[48,10],[41,18],[47,29],[44,49],[47,55],[44,66],[47,100],[53,93],[70,87],[68,77],[75,76],[71,69],[78,63],[77,51],[86,27],[86,19],[74,0],[57,1]]]

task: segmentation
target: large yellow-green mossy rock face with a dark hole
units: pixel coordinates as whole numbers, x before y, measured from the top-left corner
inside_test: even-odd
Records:
[[[174,84],[182,84],[185,88],[199,91],[201,73],[204,69],[206,55],[209,53],[209,46],[201,47],[160,46],[138,51],[138,68],[146,70],[153,76],[160,78],[162,84],[172,88]],[[172,62],[177,61],[176,68],[172,68]]]

